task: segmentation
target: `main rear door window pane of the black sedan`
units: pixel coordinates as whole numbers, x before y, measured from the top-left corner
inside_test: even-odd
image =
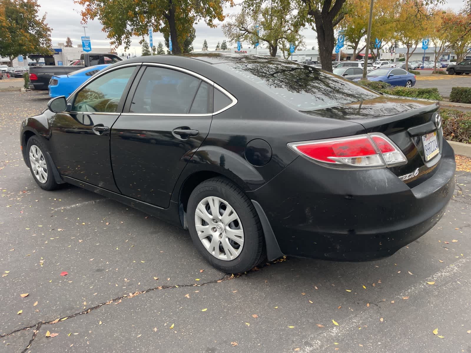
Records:
[[[188,114],[200,82],[181,71],[148,66],[132,98],[130,112]]]

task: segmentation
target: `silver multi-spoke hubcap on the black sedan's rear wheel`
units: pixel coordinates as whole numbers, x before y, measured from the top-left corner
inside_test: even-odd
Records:
[[[195,211],[196,232],[209,253],[220,260],[234,260],[244,247],[244,230],[239,216],[225,200],[210,196]]]

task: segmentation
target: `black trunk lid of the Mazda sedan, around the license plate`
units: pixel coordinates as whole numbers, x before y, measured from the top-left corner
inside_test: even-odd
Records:
[[[441,119],[437,119],[438,110],[436,101],[384,95],[309,114],[356,122],[367,133],[380,132],[388,136],[407,158],[406,164],[389,169],[409,187],[414,187],[433,176],[441,157],[443,132]],[[422,136],[431,133],[437,138],[439,152],[427,160],[426,154],[433,154],[436,145],[433,136],[429,135],[425,143]]]

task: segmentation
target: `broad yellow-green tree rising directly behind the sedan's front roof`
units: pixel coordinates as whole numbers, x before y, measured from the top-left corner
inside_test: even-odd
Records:
[[[193,24],[203,20],[216,27],[214,20],[223,21],[223,6],[230,0],[74,0],[84,7],[82,21],[97,18],[111,39],[111,45],[129,48],[132,36],[149,31],[171,36],[172,52],[181,54],[184,42],[192,33]]]

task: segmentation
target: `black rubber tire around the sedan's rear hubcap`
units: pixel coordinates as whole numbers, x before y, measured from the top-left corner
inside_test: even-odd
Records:
[[[209,196],[219,197],[229,203],[240,218],[244,229],[244,245],[233,260],[214,257],[203,246],[195,227],[195,211],[200,201]],[[236,185],[221,177],[208,179],[195,187],[187,206],[187,223],[196,249],[213,267],[226,273],[243,273],[259,265],[266,258],[262,226],[252,201]]]

